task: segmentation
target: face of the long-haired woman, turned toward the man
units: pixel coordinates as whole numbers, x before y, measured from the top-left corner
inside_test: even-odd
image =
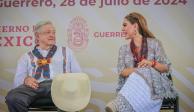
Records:
[[[127,19],[124,19],[122,31],[126,34],[125,39],[132,39],[137,33],[137,24],[131,24]]]

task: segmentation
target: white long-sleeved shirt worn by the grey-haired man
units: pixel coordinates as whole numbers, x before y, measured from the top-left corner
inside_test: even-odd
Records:
[[[46,57],[49,50],[43,50],[38,48],[38,51],[42,54],[43,57]],[[79,63],[77,62],[75,56],[73,55],[73,52],[71,49],[66,47],[66,72],[72,72],[72,73],[79,73],[81,72],[81,68],[79,66]],[[33,60],[36,64],[37,57],[34,56]],[[62,52],[62,47],[57,47],[57,50],[53,57],[51,58],[51,63],[49,64],[49,70],[50,70],[50,79],[53,79],[53,77],[57,74],[63,73],[63,65],[64,64],[64,54]],[[37,67],[37,64],[36,64]],[[14,85],[13,87],[16,88],[23,84],[25,77],[32,76],[33,72],[33,66],[31,65],[31,58],[27,53],[25,53],[18,61],[17,64],[17,70],[16,75],[14,78]],[[44,81],[44,79],[41,77],[38,79],[38,82]]]

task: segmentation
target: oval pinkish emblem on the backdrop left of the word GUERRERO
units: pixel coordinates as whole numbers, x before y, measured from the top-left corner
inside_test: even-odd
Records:
[[[85,19],[75,17],[70,21],[67,29],[68,46],[74,50],[81,50],[88,45],[89,29]]]

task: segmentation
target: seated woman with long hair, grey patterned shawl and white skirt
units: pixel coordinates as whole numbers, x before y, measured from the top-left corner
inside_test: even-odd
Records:
[[[159,112],[164,97],[176,96],[168,79],[171,63],[141,14],[128,14],[122,31],[130,41],[120,47],[118,94],[105,109],[107,112]]]

